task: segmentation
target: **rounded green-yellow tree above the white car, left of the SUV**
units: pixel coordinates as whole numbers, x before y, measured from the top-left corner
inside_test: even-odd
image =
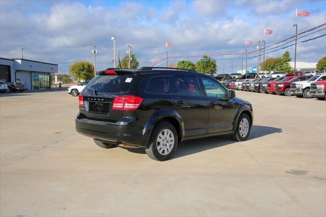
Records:
[[[79,61],[69,66],[69,72],[78,80],[90,80],[94,77],[94,66],[88,61]]]

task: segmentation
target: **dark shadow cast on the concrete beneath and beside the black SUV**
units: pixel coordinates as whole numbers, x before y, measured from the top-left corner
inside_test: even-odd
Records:
[[[254,125],[250,132],[249,140],[256,138],[264,137],[265,135],[280,133],[282,132],[281,128],[269,127],[269,126],[260,126]],[[206,137],[201,139],[186,140],[178,145],[177,151],[172,156],[172,159],[178,157],[184,157],[186,155],[195,154],[198,152],[206,151],[213,148],[218,148],[225,145],[230,145],[237,143],[232,140],[230,135],[218,135],[215,137]],[[146,154],[144,148],[124,148],[130,152],[138,154]]]

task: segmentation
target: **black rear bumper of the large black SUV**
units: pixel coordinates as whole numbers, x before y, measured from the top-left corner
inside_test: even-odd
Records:
[[[120,125],[84,118],[75,119],[75,125],[78,133],[110,143],[146,147],[150,139],[150,133],[144,135],[139,131],[140,126],[135,125]]]

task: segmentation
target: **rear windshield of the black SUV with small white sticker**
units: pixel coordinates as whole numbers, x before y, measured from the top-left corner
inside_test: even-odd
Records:
[[[134,77],[134,74],[96,75],[87,88],[94,89],[98,93],[128,92]]]

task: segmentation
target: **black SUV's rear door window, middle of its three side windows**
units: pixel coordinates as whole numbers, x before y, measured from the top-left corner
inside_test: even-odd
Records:
[[[200,96],[200,87],[195,76],[175,76],[175,93],[178,95]]]

